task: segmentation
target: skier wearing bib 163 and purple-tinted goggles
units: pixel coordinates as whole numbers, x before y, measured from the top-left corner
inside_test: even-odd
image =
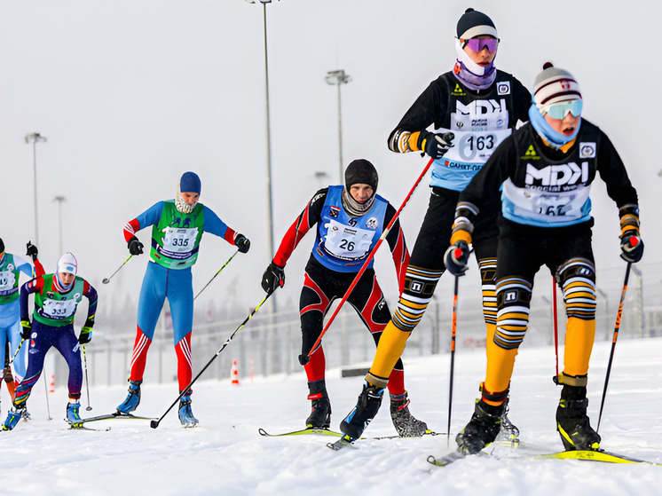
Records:
[[[458,20],[456,34],[453,70],[430,83],[389,136],[391,151],[425,153],[434,159],[432,191],[406,271],[405,290],[384,329],[357,406],[341,424],[341,430],[350,437],[360,437],[377,413],[390,370],[423,318],[445,271],[444,252],[453,230],[458,195],[517,121],[528,119],[531,94],[514,76],[494,67],[499,37],[493,20],[483,12],[467,9]],[[496,321],[494,216],[498,209],[496,199],[492,209],[485,209],[477,218],[474,233],[487,342]],[[515,426],[504,419],[504,425],[507,423],[510,434],[516,436]]]

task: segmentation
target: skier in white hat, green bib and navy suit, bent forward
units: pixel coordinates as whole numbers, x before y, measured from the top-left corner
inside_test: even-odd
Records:
[[[69,402],[67,421],[72,427],[82,425],[79,415],[83,366],[80,345],[90,342],[97,312],[97,291],[82,277],[77,276],[78,263],[71,253],[59,257],[58,270],[26,282],[20,287],[20,325],[22,337],[29,339],[28,371],[16,388],[12,409],[3,424],[3,430],[13,429],[26,407],[30,391],[43,371],[43,359],[51,347],[67,360],[69,367]],[[35,310],[30,322],[28,296],[35,295]],[[75,311],[83,296],[88,299],[85,324],[76,337]]]

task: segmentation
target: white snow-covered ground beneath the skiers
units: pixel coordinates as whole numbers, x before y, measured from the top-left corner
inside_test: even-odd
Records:
[[[232,352],[232,346],[228,352]],[[597,343],[589,379],[589,414],[597,421],[611,343]],[[210,353],[211,355],[211,353]],[[459,348],[455,356],[452,432],[469,421],[485,355]],[[621,340],[617,344],[600,434],[603,448],[662,462],[662,340]],[[210,357],[209,357],[210,358]],[[197,358],[199,366],[209,358]],[[409,358],[406,385],[415,416],[445,432],[449,356]],[[148,364],[149,366],[149,364]],[[241,368],[241,364],[240,364]],[[524,444],[552,452],[562,449],[554,414],[559,390],[554,350],[527,348],[517,358],[510,419],[521,429],[522,446],[501,456],[469,457],[445,468],[425,459],[448,451],[445,436],[364,440],[339,452],[328,437],[261,437],[257,429],[278,432],[303,426],[309,410],[303,374],[242,377],[240,385],[200,381],[194,387],[196,429],[183,429],[173,410],[158,429],[146,421],[96,422],[107,432],[71,431],[62,418],[66,391],[50,394],[47,420],[43,384],[28,402],[33,420],[2,432],[2,494],[288,494],[288,495],[618,495],[662,494],[662,467],[589,461],[533,460]],[[361,378],[327,374],[337,429],[354,405]],[[177,397],[176,385],[143,387],[136,413],[159,417]],[[83,416],[114,411],[125,385],[83,388]],[[9,405],[2,390],[3,412]],[[366,435],[395,433],[385,401]],[[454,445],[453,440],[451,445]]]

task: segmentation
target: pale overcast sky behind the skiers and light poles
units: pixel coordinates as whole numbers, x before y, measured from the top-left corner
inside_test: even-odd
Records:
[[[352,77],[342,87],[345,163],[373,161],[379,193],[399,207],[426,161],[392,154],[386,138],[427,84],[453,67],[455,25],[467,7],[492,17],[501,39],[496,65],[527,87],[546,60],[576,76],[585,117],[610,136],[639,191],[642,266],[658,265],[662,6],[652,0],[267,5],[276,243],[312,193],[339,182],[337,90],[324,81],[329,70],[342,68]],[[111,284],[101,284],[129,255],[122,227],[172,198],[181,174],[194,170],[201,201],[252,242],[249,254],[235,257],[196,303],[232,295],[247,308],[259,303],[259,279],[272,256],[262,4],[4,0],[0,67],[0,237],[8,251],[24,255],[26,241],[36,239],[33,149],[24,137],[39,132],[48,138],[36,152],[38,240],[47,270],[59,256],[54,198],[64,196],[64,250],[78,258],[80,274],[102,297],[137,298],[147,256],[134,257]],[[327,177],[317,178],[318,172]],[[428,182],[402,215],[412,245]],[[598,265],[620,266],[618,213],[599,181],[593,199]],[[148,244],[149,230],[138,236]],[[309,235],[288,264],[283,302],[298,299],[311,243]],[[233,251],[223,240],[203,237],[193,268],[196,291]],[[377,263],[383,286],[393,287],[388,250]]]

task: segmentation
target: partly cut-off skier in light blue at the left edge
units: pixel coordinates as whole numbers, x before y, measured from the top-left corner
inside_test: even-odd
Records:
[[[8,362],[16,354],[16,358],[12,362],[15,374],[14,380],[7,381],[12,375],[11,367],[6,366],[4,371],[4,380],[7,382],[7,389],[12,400],[16,386],[25,377],[28,367],[28,346],[23,346],[24,342],[21,340],[20,272],[26,274],[30,279],[43,275],[43,266],[37,259],[38,253],[35,245],[28,241],[26,255],[31,256],[35,264],[35,272],[33,273],[32,265],[25,259],[11,253],[5,253],[4,242],[0,240],[0,363]],[[7,347],[5,344],[9,344],[9,346]],[[19,350],[18,353],[17,350]],[[7,356],[5,356],[5,353]],[[24,409],[23,413],[28,419],[28,410]]]

